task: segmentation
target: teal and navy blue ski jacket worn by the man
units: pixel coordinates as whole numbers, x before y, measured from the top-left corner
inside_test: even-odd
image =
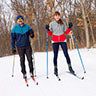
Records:
[[[11,31],[11,45],[12,48],[15,48],[15,43],[17,47],[24,47],[30,45],[30,36],[34,37],[34,31],[32,28],[27,25],[23,24],[21,27],[19,24],[17,24],[15,27],[13,27]]]

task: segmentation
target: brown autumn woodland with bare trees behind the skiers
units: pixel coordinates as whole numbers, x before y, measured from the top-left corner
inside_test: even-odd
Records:
[[[0,1],[0,57],[11,55],[10,32],[16,16],[24,16],[25,23],[35,31],[31,40],[34,51],[46,51],[45,25],[52,21],[55,11],[73,23],[79,48],[90,48],[96,43],[96,0],[1,0]],[[69,40],[67,40],[69,47]],[[49,37],[49,50],[52,50]]]

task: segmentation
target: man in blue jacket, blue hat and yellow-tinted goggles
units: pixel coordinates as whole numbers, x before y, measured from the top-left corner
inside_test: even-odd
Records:
[[[28,60],[29,69],[31,76],[33,75],[33,62],[32,62],[32,48],[30,45],[30,38],[34,37],[34,31],[32,28],[24,24],[24,18],[22,15],[18,15],[16,17],[17,25],[13,27],[11,31],[11,45],[12,45],[12,53],[16,53],[16,47],[18,50],[18,54],[20,56],[20,65],[21,72],[23,73],[23,78],[26,79],[26,66],[25,66],[25,55]],[[16,45],[16,47],[15,47]]]

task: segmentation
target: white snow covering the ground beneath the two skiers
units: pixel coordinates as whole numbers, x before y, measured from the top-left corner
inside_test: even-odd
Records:
[[[61,81],[58,81],[53,74],[53,52],[48,52],[49,79],[46,79],[46,53],[35,53],[36,80],[39,85],[35,85],[30,79],[26,60],[29,87],[26,87],[22,79],[19,56],[15,56],[14,77],[12,77],[14,56],[0,58],[0,96],[96,96],[96,49],[84,48],[80,49],[80,53],[86,74],[84,74],[77,50],[69,50],[73,69],[78,76],[84,76],[85,79],[80,80],[67,73],[68,67],[65,57],[63,52],[59,51],[58,71]]]

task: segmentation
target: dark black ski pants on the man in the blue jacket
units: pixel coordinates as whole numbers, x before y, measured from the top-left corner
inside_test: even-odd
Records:
[[[25,46],[25,47],[18,47],[18,54],[20,57],[20,65],[21,65],[21,72],[23,74],[26,74],[26,66],[25,66],[25,55],[28,60],[30,73],[33,73],[33,62],[32,62],[32,48],[31,46]]]

